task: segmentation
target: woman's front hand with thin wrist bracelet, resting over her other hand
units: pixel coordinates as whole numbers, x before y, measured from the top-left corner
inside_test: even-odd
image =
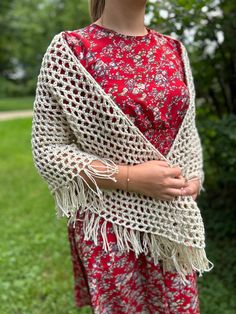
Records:
[[[188,186],[179,167],[170,167],[166,161],[151,160],[129,166],[129,191],[159,200],[173,200],[184,195],[181,188]]]

